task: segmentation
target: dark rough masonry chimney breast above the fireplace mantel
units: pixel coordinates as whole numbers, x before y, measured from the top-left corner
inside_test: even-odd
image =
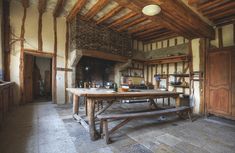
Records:
[[[70,25],[70,50],[88,49],[132,56],[132,39],[124,33],[117,33],[104,26],[81,20],[79,16]]]

